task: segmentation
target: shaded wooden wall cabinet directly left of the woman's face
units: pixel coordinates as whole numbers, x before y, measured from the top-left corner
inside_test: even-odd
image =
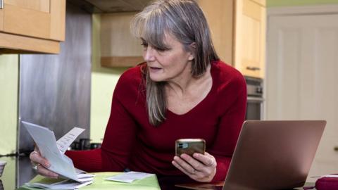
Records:
[[[101,15],[101,65],[131,67],[144,61],[141,41],[132,37],[130,21],[135,12]]]

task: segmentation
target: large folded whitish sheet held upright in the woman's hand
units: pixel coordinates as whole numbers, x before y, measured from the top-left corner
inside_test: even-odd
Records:
[[[77,177],[73,161],[59,151],[54,132],[30,122],[23,121],[23,126],[26,127],[30,136],[34,139],[42,156],[49,160],[51,164],[48,168],[49,170],[58,173],[61,177],[73,179],[77,182],[87,182],[93,179],[94,175],[92,175],[92,178],[84,177],[85,179]]]

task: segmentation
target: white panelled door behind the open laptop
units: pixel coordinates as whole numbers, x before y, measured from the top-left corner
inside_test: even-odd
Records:
[[[338,13],[271,15],[267,42],[265,119],[327,120],[308,181],[338,173]]]

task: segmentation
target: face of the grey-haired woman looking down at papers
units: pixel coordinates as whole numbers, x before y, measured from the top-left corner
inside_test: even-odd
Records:
[[[156,49],[143,41],[143,58],[149,68],[149,76],[155,82],[182,80],[191,76],[194,56],[184,49],[183,44],[170,34],[164,40],[168,49]]]

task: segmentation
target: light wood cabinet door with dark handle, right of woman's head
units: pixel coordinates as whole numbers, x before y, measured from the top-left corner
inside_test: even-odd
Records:
[[[256,1],[237,1],[234,65],[243,75],[264,76],[265,14]]]

